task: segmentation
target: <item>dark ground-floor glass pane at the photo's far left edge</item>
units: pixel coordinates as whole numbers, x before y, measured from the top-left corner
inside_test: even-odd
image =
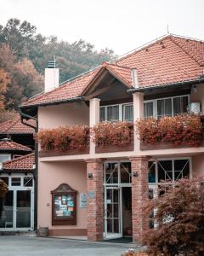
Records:
[[[14,191],[0,198],[0,228],[13,228]]]

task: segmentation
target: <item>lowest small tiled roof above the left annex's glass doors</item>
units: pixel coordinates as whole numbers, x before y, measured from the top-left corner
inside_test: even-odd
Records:
[[[3,162],[2,170],[32,171],[34,163],[35,163],[35,154],[34,153],[26,154],[24,156],[15,158],[14,160]]]

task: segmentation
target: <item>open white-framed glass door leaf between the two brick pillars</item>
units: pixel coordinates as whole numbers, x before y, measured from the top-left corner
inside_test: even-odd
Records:
[[[122,188],[105,188],[105,238],[122,237]]]

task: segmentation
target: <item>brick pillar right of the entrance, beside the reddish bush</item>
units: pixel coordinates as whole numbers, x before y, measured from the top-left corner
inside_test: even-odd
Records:
[[[149,220],[142,207],[148,200],[148,159],[134,157],[132,167],[132,222],[133,242],[142,243],[144,231],[149,230]]]

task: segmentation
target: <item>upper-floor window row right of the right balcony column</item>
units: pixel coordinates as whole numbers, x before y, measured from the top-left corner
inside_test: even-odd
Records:
[[[189,96],[174,96],[144,102],[144,118],[173,116],[186,113],[189,105]]]

